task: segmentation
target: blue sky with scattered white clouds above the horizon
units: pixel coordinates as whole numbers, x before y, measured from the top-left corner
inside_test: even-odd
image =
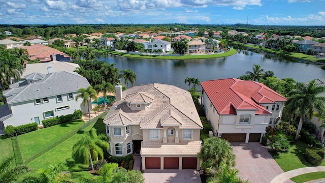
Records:
[[[325,25],[325,0],[0,0],[0,24]]]

